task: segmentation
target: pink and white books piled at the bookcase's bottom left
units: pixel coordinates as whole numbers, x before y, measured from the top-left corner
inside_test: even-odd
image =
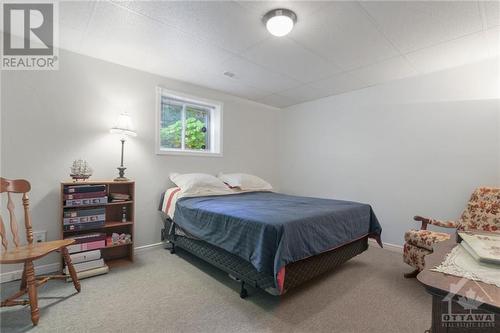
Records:
[[[75,243],[68,246],[71,261],[75,267],[78,279],[106,274],[109,267],[101,258],[101,248],[106,246],[105,233],[92,233],[71,237]],[[64,273],[69,277],[68,267],[64,268]]]

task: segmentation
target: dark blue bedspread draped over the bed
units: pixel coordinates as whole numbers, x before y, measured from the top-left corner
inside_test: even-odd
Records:
[[[174,221],[275,278],[286,264],[382,231],[370,205],[272,192],[181,198]]]

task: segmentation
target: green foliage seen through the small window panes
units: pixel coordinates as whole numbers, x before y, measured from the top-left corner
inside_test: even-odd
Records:
[[[185,146],[187,149],[206,149],[206,127],[205,123],[194,117],[186,119]],[[160,129],[160,140],[162,147],[181,148],[182,122],[180,120]]]

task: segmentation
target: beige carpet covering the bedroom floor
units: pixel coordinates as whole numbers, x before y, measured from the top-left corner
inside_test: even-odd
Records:
[[[180,251],[179,251],[180,252]],[[401,255],[370,247],[326,276],[279,298],[238,284],[188,254],[161,248],[137,254],[133,265],[72,284],[40,289],[41,318],[29,307],[1,310],[2,332],[424,332],[431,297]],[[183,259],[184,258],[184,259]],[[186,260],[187,259],[187,260]],[[18,288],[3,284],[2,298]]]

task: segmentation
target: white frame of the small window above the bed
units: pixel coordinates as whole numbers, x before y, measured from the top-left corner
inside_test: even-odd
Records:
[[[160,127],[161,127],[161,99],[162,97],[180,100],[186,103],[206,105],[210,108],[210,149],[206,151],[190,150],[183,148],[162,148],[160,140]],[[222,157],[222,109],[224,104],[222,102],[200,98],[162,87],[156,88],[156,119],[155,119],[155,143],[157,155],[185,155],[185,156],[211,156]],[[184,122],[184,118],[183,118]],[[184,135],[184,133],[182,134]]]

